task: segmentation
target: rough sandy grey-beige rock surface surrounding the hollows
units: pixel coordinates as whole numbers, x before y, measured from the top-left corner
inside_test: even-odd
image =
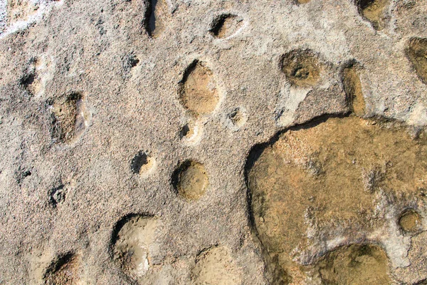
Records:
[[[427,85],[406,56],[411,38],[427,38],[426,1],[388,1],[381,30],[353,0],[166,1],[167,13],[157,13],[162,30],[152,33],[148,1],[0,0],[0,284],[132,284],[112,244],[117,223],[134,214],[160,224],[148,249],[151,284],[200,281],[194,274],[215,268],[218,252],[226,252],[218,266],[232,260],[224,270],[238,275],[237,284],[268,284],[270,261],[248,205],[251,149],[292,125],[348,115],[342,71],[350,63],[358,66],[366,117],[403,121],[413,133],[427,123]],[[236,15],[239,27],[216,37],[223,14]],[[314,87],[295,87],[283,73],[283,55],[298,50],[322,66]],[[195,60],[218,92],[214,110],[197,118],[179,98]],[[67,128],[75,123],[76,135],[60,140],[56,102],[73,104],[72,94],[84,98],[88,114],[72,105]],[[233,120],[236,110],[243,123]],[[181,135],[187,124],[196,126],[189,139]],[[146,175],[132,170],[142,152],[153,163]],[[209,179],[196,201],[172,185],[186,160],[204,165]],[[393,205],[384,222],[394,232],[378,245],[396,283],[427,278],[427,193],[419,192],[408,204],[384,202]],[[400,231],[395,213],[407,207],[420,214],[421,232]],[[215,248],[201,269],[203,252]],[[310,272],[292,270],[286,280],[315,284]]]

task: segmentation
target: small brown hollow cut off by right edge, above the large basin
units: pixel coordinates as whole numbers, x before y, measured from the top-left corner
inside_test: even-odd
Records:
[[[418,78],[427,84],[427,38],[411,38],[406,47],[406,56]]]

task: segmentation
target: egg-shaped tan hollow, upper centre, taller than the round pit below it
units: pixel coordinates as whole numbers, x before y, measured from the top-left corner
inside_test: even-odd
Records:
[[[184,73],[179,87],[182,105],[195,117],[215,110],[219,101],[218,89],[212,71],[205,63],[194,61]]]

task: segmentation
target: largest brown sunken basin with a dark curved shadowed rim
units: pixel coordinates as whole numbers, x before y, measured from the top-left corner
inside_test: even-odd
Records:
[[[381,228],[384,219],[372,218],[373,193],[416,195],[427,187],[426,155],[426,134],[413,139],[398,122],[352,115],[287,130],[248,158],[260,241],[287,270],[292,251],[304,252],[314,240],[307,238],[311,223],[322,239],[334,239],[331,229],[354,237]]]

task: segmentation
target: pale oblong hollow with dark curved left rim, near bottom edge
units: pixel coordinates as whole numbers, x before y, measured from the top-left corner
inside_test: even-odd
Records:
[[[149,246],[154,242],[157,224],[155,217],[135,214],[121,219],[115,227],[113,259],[132,279],[138,280],[149,271]]]

